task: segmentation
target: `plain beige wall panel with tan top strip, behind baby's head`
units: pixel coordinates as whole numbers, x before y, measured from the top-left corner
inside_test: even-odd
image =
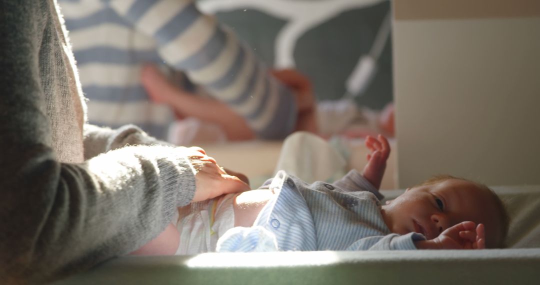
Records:
[[[394,13],[397,187],[441,173],[540,184],[540,1],[396,0]]]

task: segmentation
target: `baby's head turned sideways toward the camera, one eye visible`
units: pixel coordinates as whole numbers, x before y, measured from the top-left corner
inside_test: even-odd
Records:
[[[449,175],[433,177],[382,207],[393,233],[422,233],[436,238],[463,221],[483,223],[487,248],[500,248],[508,230],[508,214],[498,196],[487,186]]]

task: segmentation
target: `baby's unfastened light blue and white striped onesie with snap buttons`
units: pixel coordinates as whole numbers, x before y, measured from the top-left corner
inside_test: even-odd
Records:
[[[268,187],[278,194],[254,227],[225,233],[219,252],[404,250],[416,249],[414,241],[424,240],[417,233],[390,232],[377,198],[382,195],[354,170],[334,184],[307,184],[280,171]]]

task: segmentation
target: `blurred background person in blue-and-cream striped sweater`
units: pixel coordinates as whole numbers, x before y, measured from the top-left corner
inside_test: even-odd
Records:
[[[219,99],[213,109],[199,111],[216,112],[214,117],[221,119],[205,123],[224,130],[226,139],[282,139],[306,125],[299,120],[305,110],[300,110],[297,94],[279,83],[233,31],[201,13],[191,0],[59,3],[93,124],[131,122],[157,138],[168,138],[173,112],[180,118],[185,114],[150,100],[141,70],[153,63],[143,76],[152,78],[160,70],[183,94]],[[206,108],[209,102],[187,98],[181,97],[189,110]],[[315,126],[314,116],[310,118],[308,125]]]

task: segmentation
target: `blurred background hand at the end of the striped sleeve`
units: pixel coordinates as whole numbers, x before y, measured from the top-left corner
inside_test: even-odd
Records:
[[[316,101],[309,79],[294,69],[274,70],[272,74],[294,93],[298,106],[295,131],[317,133]]]

